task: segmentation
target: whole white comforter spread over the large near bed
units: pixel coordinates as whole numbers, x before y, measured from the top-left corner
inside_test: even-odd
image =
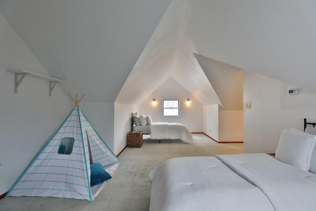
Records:
[[[316,175],[266,154],[174,158],[149,177],[150,211],[316,210]]]

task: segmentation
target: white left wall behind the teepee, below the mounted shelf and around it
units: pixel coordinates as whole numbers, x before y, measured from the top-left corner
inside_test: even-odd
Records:
[[[49,82],[25,77],[14,93],[14,74],[26,69],[47,75],[0,15],[0,195],[8,191],[71,111],[67,96]]]

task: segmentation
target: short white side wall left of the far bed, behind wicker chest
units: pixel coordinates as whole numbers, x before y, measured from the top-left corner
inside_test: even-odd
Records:
[[[134,105],[115,103],[114,151],[116,155],[127,146],[127,133],[131,130],[132,112],[136,112]]]

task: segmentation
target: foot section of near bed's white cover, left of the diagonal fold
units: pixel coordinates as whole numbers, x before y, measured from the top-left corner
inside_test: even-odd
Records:
[[[149,178],[150,211],[274,211],[257,187],[216,157],[173,158]]]

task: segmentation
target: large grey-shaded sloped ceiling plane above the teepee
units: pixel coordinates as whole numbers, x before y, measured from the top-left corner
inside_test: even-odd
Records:
[[[0,12],[65,94],[114,102],[170,2],[0,0]]]

